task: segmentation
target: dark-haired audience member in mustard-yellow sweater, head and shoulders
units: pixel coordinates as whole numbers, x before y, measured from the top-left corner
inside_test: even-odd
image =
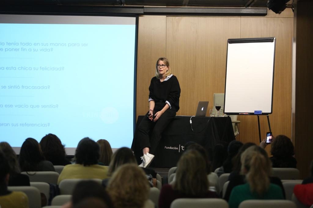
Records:
[[[78,143],[75,151],[76,164],[64,166],[58,184],[68,178],[107,178],[108,167],[98,165],[99,157],[99,145],[88,137],[83,138]]]

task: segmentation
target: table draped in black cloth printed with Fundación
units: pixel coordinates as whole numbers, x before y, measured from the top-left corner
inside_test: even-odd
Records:
[[[138,116],[131,145],[138,164],[141,163],[142,150],[136,135],[138,125],[143,117]],[[190,117],[175,116],[168,124],[162,133],[161,141],[156,149],[156,156],[150,167],[175,167],[185,150],[184,145],[190,141],[202,145],[208,151],[209,157],[212,158],[215,144],[221,141],[229,143],[235,139],[230,117],[192,117],[193,131]]]

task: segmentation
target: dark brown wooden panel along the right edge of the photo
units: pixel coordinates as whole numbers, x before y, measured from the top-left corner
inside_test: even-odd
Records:
[[[296,3],[296,61],[295,61],[295,157],[302,178],[310,175],[313,160],[313,1]]]

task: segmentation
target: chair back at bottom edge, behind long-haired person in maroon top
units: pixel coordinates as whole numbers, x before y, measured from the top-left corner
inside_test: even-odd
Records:
[[[175,199],[171,208],[228,208],[227,201],[223,199],[210,198],[210,199],[197,199],[197,198],[181,198]]]

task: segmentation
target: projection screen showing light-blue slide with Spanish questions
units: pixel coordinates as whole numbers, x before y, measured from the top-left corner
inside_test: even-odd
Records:
[[[84,137],[131,146],[136,18],[86,18],[0,17],[2,141],[54,133],[67,148]]]

